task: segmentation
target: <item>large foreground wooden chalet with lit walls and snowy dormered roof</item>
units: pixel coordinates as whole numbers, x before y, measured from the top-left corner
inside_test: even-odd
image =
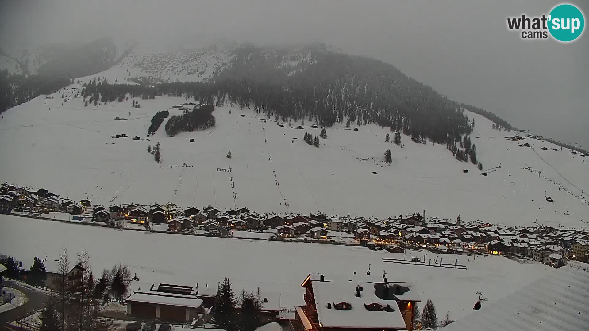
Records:
[[[301,286],[305,305],[295,307],[296,330],[411,331],[413,305],[421,302],[413,284],[388,282],[386,277],[309,274]]]

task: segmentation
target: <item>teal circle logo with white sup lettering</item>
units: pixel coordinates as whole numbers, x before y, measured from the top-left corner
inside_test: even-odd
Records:
[[[583,13],[575,6],[562,4],[550,11],[548,31],[558,41],[573,41],[577,39],[585,27]]]

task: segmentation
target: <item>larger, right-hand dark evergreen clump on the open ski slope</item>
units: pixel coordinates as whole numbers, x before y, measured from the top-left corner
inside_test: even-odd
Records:
[[[204,130],[215,126],[215,117],[212,112],[215,107],[209,105],[194,106],[192,111],[185,110],[182,115],[174,115],[166,123],[166,133],[168,137],[186,131]]]

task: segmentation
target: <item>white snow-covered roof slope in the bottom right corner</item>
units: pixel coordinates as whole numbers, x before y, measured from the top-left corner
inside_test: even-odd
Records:
[[[589,264],[574,262],[481,310],[445,331],[580,331],[589,325]]]

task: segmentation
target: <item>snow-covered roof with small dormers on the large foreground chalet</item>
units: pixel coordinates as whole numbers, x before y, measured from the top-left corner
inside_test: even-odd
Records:
[[[404,329],[405,320],[401,315],[395,300],[382,300],[376,296],[372,287],[364,287],[361,296],[355,296],[354,282],[313,282],[313,295],[317,306],[317,318],[323,327],[366,327],[374,329]],[[352,306],[350,310],[337,310],[335,304],[347,302]],[[389,304],[393,312],[370,312],[365,304]],[[331,308],[327,309],[327,303]]]

